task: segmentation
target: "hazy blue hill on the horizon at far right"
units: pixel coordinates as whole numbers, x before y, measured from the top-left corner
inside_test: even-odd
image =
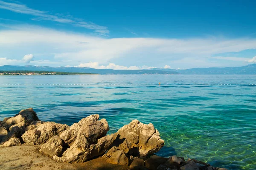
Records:
[[[256,64],[242,67],[211,67],[211,68],[190,68],[186,70],[175,70],[169,68],[151,68],[146,70],[176,71],[180,74],[256,74]]]

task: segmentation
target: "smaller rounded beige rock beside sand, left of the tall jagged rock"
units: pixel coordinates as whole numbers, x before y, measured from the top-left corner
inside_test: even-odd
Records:
[[[52,158],[53,156],[60,156],[63,149],[63,143],[61,138],[58,136],[53,136],[47,143],[41,146],[39,150],[40,153],[43,153],[45,156]]]

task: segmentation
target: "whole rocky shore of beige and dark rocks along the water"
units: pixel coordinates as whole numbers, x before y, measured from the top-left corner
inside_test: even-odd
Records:
[[[75,167],[85,162],[81,165],[83,169],[90,167],[95,170],[226,170],[195,159],[154,155],[164,146],[164,141],[151,123],[146,125],[133,120],[116,133],[107,135],[108,130],[108,122],[99,119],[98,114],[68,126],[40,121],[35,111],[29,108],[0,121],[0,153],[6,147],[31,149],[30,146],[33,146],[32,149],[38,148],[35,150],[37,154],[63,165],[57,169],[79,169]],[[1,161],[0,157],[0,164]],[[90,162],[98,164],[90,165]]]

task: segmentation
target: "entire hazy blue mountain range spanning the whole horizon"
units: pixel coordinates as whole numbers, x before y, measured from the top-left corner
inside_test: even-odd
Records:
[[[17,66],[3,65],[0,71],[55,71],[70,73],[93,73],[93,74],[256,74],[256,64],[242,67],[225,68],[190,68],[186,70],[175,70],[169,68],[151,68],[143,70],[112,70],[95,69],[87,67],[47,67],[47,66]]]

